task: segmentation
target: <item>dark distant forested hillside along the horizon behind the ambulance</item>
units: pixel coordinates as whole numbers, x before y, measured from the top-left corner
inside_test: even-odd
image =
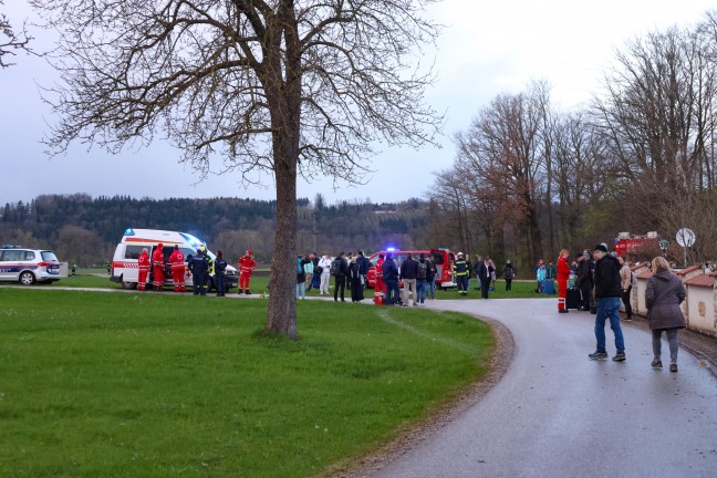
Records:
[[[404,249],[424,243],[428,204],[341,201],[321,195],[299,200],[299,251],[375,251],[389,245]],[[128,227],[189,232],[236,261],[252,249],[269,263],[273,248],[276,202],[257,199],[135,199],[85,194],[43,195],[0,210],[0,243],[53,249],[61,261],[80,267],[104,264]],[[448,245],[449,246],[449,245]]]

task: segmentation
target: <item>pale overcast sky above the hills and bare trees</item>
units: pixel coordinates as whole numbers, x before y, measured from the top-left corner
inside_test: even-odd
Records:
[[[1,7],[0,7],[1,8]],[[590,101],[616,48],[654,29],[697,22],[715,0],[445,0],[428,12],[445,24],[436,58],[438,83],[429,103],[446,112],[443,148],[384,149],[372,160],[365,186],[301,181],[299,195],[322,191],[330,201],[371,198],[398,201],[420,197],[433,173],[455,156],[451,137],[495,95],[519,92],[531,80],[548,80],[553,100],[570,108]],[[4,13],[20,25],[32,12],[24,0],[8,0]],[[48,43],[34,32],[37,44]],[[273,184],[245,188],[235,175],[199,177],[177,162],[179,153],[156,142],[148,148],[111,155],[74,145],[52,159],[39,143],[54,118],[41,102],[37,84],[56,75],[43,60],[18,56],[0,71],[0,204],[30,200],[41,194],[92,196],[273,198]],[[155,178],[165,178],[157,183]],[[152,185],[152,186],[149,186]]]

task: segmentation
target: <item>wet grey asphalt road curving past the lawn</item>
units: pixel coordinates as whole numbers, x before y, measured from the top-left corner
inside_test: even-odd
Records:
[[[634,328],[623,328],[627,362],[592,362],[594,316],[559,315],[555,302],[430,302],[500,321],[515,356],[485,398],[376,476],[717,477],[717,378],[705,363],[680,350],[679,373],[653,371],[652,337]]]

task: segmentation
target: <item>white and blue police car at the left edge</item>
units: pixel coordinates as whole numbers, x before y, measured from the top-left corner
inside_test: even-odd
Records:
[[[54,252],[20,246],[0,247],[0,281],[32,285],[56,280],[60,280],[60,261]]]

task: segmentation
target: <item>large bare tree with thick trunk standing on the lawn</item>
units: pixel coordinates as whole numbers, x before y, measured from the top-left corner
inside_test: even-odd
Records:
[[[419,146],[440,117],[415,65],[436,0],[30,0],[61,33],[48,138],[116,152],[160,134],[184,160],[273,176],[267,331],[297,333],[297,178],[351,177],[375,141]]]

